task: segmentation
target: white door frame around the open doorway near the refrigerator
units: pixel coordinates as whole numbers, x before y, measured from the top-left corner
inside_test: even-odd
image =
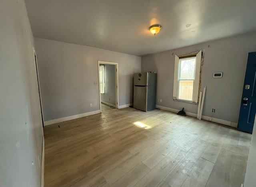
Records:
[[[116,62],[106,62],[106,61],[98,61],[98,85],[99,85],[99,95],[100,95],[100,64],[110,64],[110,65],[115,65],[116,69],[116,108],[119,108],[119,97],[118,97],[118,63]],[[99,96],[100,98],[100,112],[101,110],[101,95]]]

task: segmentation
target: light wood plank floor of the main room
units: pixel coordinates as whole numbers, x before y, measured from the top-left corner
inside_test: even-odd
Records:
[[[164,110],[44,128],[46,187],[240,187],[251,135]]]

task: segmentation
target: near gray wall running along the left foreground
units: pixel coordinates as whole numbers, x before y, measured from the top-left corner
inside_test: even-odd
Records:
[[[42,120],[24,0],[0,1],[0,41],[0,186],[40,187]]]

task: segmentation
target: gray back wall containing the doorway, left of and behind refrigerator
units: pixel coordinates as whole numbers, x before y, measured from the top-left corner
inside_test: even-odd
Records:
[[[141,57],[41,38],[35,45],[45,121],[100,110],[98,61],[118,63],[119,105],[132,103]]]

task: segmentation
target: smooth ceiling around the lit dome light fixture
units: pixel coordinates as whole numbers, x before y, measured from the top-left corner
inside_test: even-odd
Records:
[[[35,37],[133,55],[256,30],[255,0],[25,2]],[[148,30],[152,24],[162,25],[156,36]]]

